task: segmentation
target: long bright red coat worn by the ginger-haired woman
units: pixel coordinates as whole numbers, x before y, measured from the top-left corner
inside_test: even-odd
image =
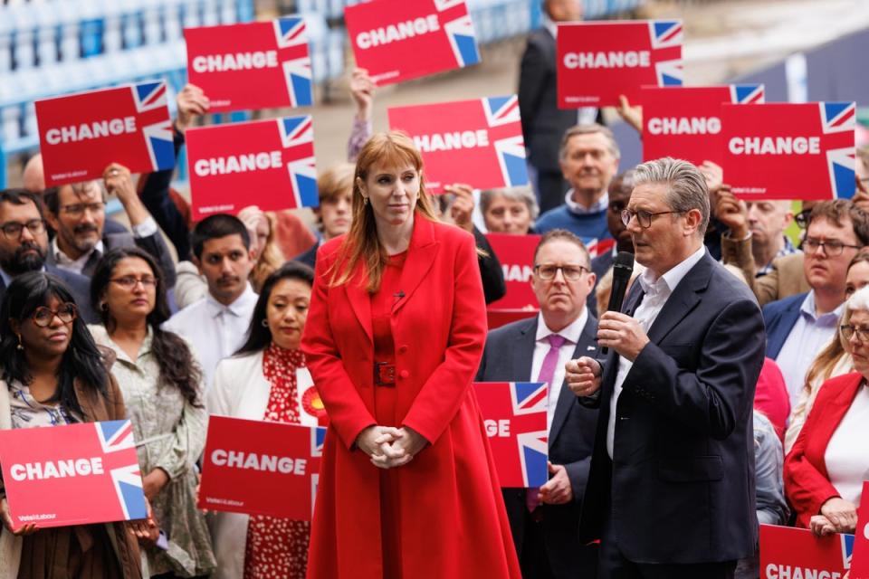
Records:
[[[339,240],[325,243],[302,349],[329,413],[314,520],[310,578],[383,575],[379,471],[353,448],[377,423],[370,296],[361,268],[339,288],[325,280]],[[520,577],[492,452],[471,383],[486,310],[473,237],[415,216],[393,309],[396,415],[432,444],[398,468],[402,575]]]

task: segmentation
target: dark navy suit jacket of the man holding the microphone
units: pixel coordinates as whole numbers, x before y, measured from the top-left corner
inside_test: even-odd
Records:
[[[625,313],[634,313],[642,294],[635,283]],[[580,399],[600,408],[580,536],[600,537],[608,517],[631,561],[696,564],[752,555],[752,403],[765,340],[757,301],[706,252],[648,337],[616,405],[615,460],[606,451],[615,351],[604,361],[599,396]]]

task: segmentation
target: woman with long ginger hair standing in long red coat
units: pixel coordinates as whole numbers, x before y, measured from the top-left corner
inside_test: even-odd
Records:
[[[520,577],[471,383],[473,237],[438,223],[400,133],[359,153],[353,222],[320,248],[302,338],[329,414],[308,576]]]

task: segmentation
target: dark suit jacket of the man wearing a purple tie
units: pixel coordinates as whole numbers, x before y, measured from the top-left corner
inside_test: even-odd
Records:
[[[538,318],[521,319],[493,329],[486,338],[478,382],[529,381]],[[588,316],[574,356],[595,356],[597,318]],[[591,349],[589,349],[591,348]],[[540,505],[549,565],[556,577],[578,577],[582,559],[578,543],[579,509],[586,490],[591,451],[594,448],[597,410],[577,403],[567,384],[562,384],[559,402],[549,432],[549,460],[568,470],[574,500],[566,505]],[[521,557],[526,512],[525,489],[503,489],[513,543]]]

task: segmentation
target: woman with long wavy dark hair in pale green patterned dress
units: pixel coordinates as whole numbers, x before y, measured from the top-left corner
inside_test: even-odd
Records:
[[[167,540],[145,549],[148,574],[209,574],[215,555],[196,509],[195,464],[208,420],[202,372],[186,341],[160,329],[169,318],[163,271],[148,252],[114,249],[93,272],[91,303],[99,304],[102,319],[91,333],[117,358],[112,374],[133,422],[145,496]]]

